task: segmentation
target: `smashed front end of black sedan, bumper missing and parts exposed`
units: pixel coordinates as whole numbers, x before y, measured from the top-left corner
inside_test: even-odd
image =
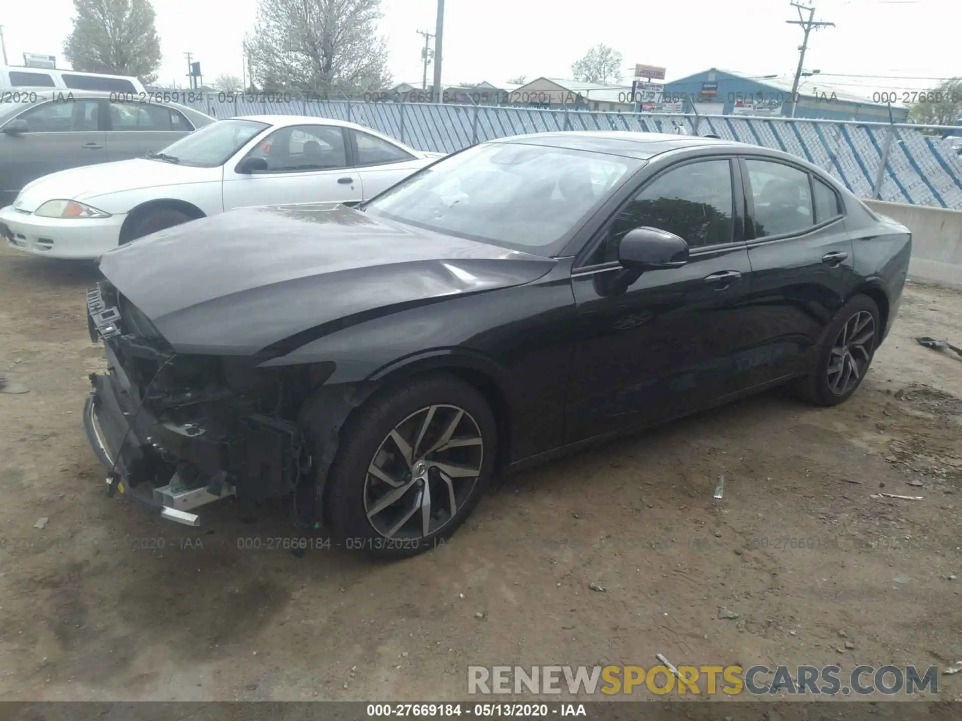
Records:
[[[88,291],[87,305],[90,337],[104,341],[109,369],[89,377],[84,425],[109,469],[110,494],[198,526],[193,511],[221,498],[260,503],[312,485],[315,461],[298,414],[333,363],[263,368],[257,356],[176,353],[107,281]],[[316,493],[307,493],[299,516],[310,523]]]

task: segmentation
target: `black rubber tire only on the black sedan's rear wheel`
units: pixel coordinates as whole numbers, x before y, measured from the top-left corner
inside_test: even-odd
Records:
[[[849,385],[838,385],[833,389],[832,385],[838,380],[835,376],[830,378],[830,363],[834,360],[832,349],[837,347],[835,343],[839,341],[843,329],[849,321],[860,313],[870,313],[873,322],[873,337],[871,349],[868,351],[868,360],[865,362],[864,369],[858,373]],[[864,316],[863,316],[864,317]],[[815,367],[805,376],[795,379],[786,386],[787,390],[797,398],[814,403],[818,406],[837,406],[847,401],[852,393],[862,385],[865,376],[872,364],[875,349],[878,347],[878,338],[882,332],[879,324],[878,306],[872,298],[867,295],[856,295],[835,314],[831,323],[823,333],[822,340],[819,342],[815,352]]]

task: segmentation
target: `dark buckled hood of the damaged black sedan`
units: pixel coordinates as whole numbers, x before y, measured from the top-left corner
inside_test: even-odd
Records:
[[[105,254],[100,270],[180,353],[249,355],[295,334],[537,280],[556,261],[342,205],[244,208]]]

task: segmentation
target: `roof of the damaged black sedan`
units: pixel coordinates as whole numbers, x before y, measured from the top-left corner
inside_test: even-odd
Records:
[[[491,142],[512,142],[527,145],[547,145],[568,150],[588,150],[595,153],[620,155],[646,161],[670,150],[695,149],[699,147],[722,149],[730,147],[734,151],[747,148],[757,150],[758,146],[743,142],[732,142],[715,137],[676,136],[667,133],[634,133],[631,131],[558,131],[555,133],[535,133],[528,136],[500,137]]]

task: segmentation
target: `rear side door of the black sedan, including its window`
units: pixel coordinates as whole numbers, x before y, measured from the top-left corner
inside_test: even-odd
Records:
[[[747,316],[757,336],[755,382],[806,370],[823,328],[855,283],[838,193],[807,168],[764,156],[741,160],[751,263]]]

